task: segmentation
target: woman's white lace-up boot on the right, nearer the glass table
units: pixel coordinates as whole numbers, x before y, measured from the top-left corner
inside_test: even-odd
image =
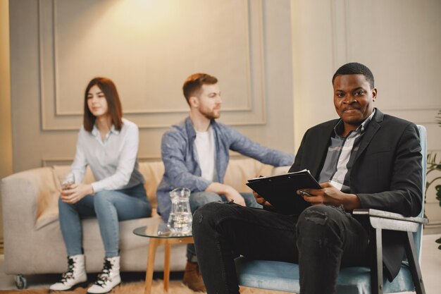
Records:
[[[87,289],[89,294],[101,294],[110,292],[115,286],[121,283],[120,277],[120,257],[104,258],[104,267],[98,280]]]

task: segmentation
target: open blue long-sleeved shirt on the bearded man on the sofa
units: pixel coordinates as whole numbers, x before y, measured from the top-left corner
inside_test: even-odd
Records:
[[[211,128],[216,144],[216,173],[219,183],[223,183],[227,170],[229,150],[272,166],[287,166],[294,162],[294,154],[263,147],[227,125],[213,120]],[[211,184],[210,180],[201,177],[197,149],[194,147],[195,139],[196,131],[190,117],[179,125],[173,125],[162,137],[161,156],[165,171],[156,191],[156,198],[158,212],[165,221],[170,213],[171,190],[186,187],[192,192],[201,192]]]

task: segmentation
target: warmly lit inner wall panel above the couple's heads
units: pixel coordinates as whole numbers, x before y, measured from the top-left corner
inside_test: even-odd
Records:
[[[257,50],[256,59],[261,47],[260,39],[249,35],[247,1],[53,3],[55,39],[50,34],[44,35],[42,44],[45,50],[56,49],[55,68],[63,73],[56,80],[56,114],[82,114],[81,102],[73,99],[82,96],[77,85],[84,85],[96,75],[111,78],[118,85],[121,97],[130,97],[124,102],[125,113],[158,114],[165,109],[170,113],[170,108],[175,112],[187,111],[183,100],[182,104],[170,107],[168,99],[181,97],[182,80],[199,71],[216,75],[223,81],[225,97],[235,97],[224,100],[224,109],[251,107],[252,56],[248,42],[251,39],[256,42],[253,47]],[[42,16],[42,27],[51,24],[50,4],[44,1],[48,9],[42,11],[48,13]],[[255,9],[253,19],[257,22],[260,13]],[[47,66],[51,68],[49,63]]]

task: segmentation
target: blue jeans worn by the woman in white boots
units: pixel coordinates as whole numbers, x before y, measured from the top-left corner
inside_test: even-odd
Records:
[[[143,184],[122,190],[103,190],[86,195],[75,204],[58,200],[61,233],[68,256],[82,254],[81,218],[96,216],[106,257],[119,254],[118,221],[140,219],[151,215],[151,205]]]

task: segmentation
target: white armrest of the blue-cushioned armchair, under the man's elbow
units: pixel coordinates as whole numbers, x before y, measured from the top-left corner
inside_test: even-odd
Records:
[[[406,217],[402,214],[385,212],[378,209],[354,209],[353,214],[369,216],[373,228],[393,231],[416,232],[420,224],[428,223],[428,219],[422,217]]]

